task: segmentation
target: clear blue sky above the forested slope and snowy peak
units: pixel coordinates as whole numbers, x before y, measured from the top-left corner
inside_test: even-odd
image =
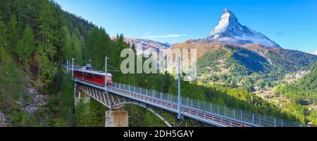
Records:
[[[56,0],[63,10],[105,27],[113,36],[183,42],[205,38],[224,8],[242,25],[285,49],[317,50],[315,0]]]

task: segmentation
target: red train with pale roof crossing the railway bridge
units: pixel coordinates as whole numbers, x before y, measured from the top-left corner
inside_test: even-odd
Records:
[[[90,65],[89,65],[90,66]],[[105,83],[106,73],[102,71],[93,71],[90,67],[85,66],[85,68],[74,68],[74,78],[80,80],[86,80],[89,82],[97,82],[101,85]],[[112,75],[107,73],[107,85],[112,85]]]

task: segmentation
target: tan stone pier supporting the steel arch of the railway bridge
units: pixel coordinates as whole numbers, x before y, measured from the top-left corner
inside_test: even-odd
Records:
[[[128,127],[128,111],[111,109],[106,111],[106,127]]]

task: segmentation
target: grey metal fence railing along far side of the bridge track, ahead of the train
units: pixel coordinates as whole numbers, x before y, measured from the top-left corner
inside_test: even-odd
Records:
[[[120,84],[118,82],[113,82],[113,87],[120,88],[121,90],[135,92],[137,94],[144,94],[144,95],[147,95],[148,97],[155,97],[156,99],[161,99],[166,102],[172,102],[174,104],[178,104],[178,97],[173,94],[158,92],[155,90],[147,90],[142,87],[135,87],[132,85]],[[266,126],[266,127],[303,126],[299,123],[295,123],[292,121],[285,121],[280,118],[273,118],[271,116],[264,116],[261,114],[253,114],[248,111],[243,111],[240,109],[232,109],[228,106],[220,106],[220,105],[212,104],[209,102],[201,102],[196,99],[189,99],[188,97],[182,97],[181,106],[185,106],[190,109],[195,109],[207,114],[213,114],[223,118],[228,118],[233,121],[247,123],[249,125],[255,125],[255,126]]]

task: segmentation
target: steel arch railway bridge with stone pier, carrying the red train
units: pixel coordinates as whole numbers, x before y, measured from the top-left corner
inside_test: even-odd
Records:
[[[68,67],[67,67],[68,68]],[[73,67],[74,68],[74,67]],[[68,68],[69,69],[69,68]],[[68,70],[67,69],[67,70]],[[75,103],[82,97],[95,99],[107,107],[105,126],[128,126],[127,104],[148,109],[169,127],[219,126],[219,127],[302,127],[299,123],[280,118],[254,114],[228,106],[201,102],[187,97],[148,90],[142,87],[113,82],[101,85],[73,78]]]

